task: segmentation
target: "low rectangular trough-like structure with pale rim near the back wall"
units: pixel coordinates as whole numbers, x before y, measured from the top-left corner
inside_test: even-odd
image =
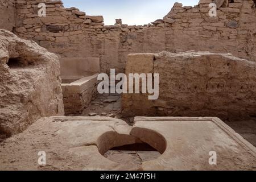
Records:
[[[61,88],[65,114],[81,113],[97,92],[100,73],[98,57],[69,57],[60,59]]]

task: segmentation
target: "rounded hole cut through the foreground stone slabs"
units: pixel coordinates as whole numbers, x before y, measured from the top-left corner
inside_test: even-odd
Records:
[[[105,158],[134,169],[159,158],[166,150],[166,140],[155,131],[137,128],[131,135],[105,133],[98,139],[97,146]]]

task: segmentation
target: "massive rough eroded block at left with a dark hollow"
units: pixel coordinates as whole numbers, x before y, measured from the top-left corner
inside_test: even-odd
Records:
[[[0,30],[0,82],[1,138],[41,117],[64,115],[57,56],[6,30]]]

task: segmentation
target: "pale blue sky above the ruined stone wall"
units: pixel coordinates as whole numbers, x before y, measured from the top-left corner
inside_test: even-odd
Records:
[[[63,0],[65,7],[77,7],[87,15],[103,15],[106,25],[122,18],[123,24],[148,24],[163,18],[175,2],[197,5],[199,0]]]

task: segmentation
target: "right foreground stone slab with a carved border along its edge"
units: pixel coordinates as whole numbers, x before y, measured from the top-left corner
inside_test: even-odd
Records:
[[[137,117],[132,133],[142,139],[139,129],[154,130],[167,143],[163,155],[142,164],[144,170],[256,170],[256,148],[218,118]],[[217,154],[216,166],[209,164],[210,151]]]

